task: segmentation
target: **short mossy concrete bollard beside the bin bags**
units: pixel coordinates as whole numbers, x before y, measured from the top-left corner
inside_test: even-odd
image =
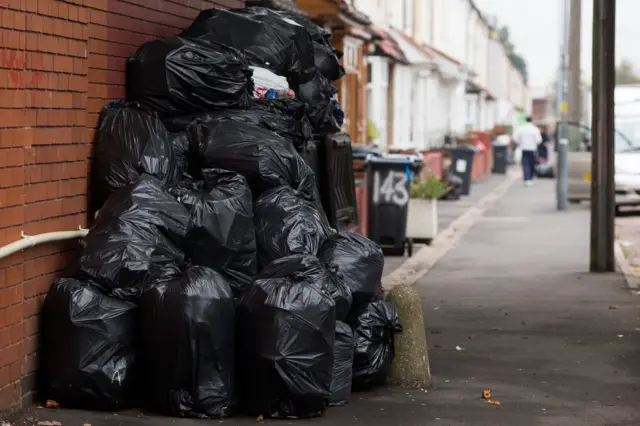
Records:
[[[398,310],[403,331],[395,337],[395,357],[387,381],[406,388],[425,388],[431,381],[422,300],[414,285],[398,284],[386,295]]]

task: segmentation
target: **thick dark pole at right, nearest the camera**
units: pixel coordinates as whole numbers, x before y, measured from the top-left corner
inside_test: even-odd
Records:
[[[615,271],[615,0],[593,0],[591,272]]]

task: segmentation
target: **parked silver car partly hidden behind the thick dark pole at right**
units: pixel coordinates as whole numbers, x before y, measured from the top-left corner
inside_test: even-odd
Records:
[[[591,198],[591,128],[567,123],[568,134],[580,134],[569,150],[569,188],[571,203]],[[640,117],[620,118],[615,128],[616,211],[623,206],[640,206]]]

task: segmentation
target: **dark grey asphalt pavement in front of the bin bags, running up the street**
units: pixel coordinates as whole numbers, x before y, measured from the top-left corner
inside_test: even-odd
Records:
[[[586,206],[519,182],[422,277],[433,383],[382,388],[297,425],[640,424],[640,306],[619,274],[588,274]],[[490,389],[490,404],[482,398]],[[16,425],[195,425],[139,411],[34,409]],[[211,421],[209,421],[211,423]],[[222,423],[256,424],[254,418]]]

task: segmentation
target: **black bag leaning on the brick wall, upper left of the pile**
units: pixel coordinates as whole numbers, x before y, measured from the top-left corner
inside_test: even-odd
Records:
[[[115,101],[100,113],[92,173],[92,207],[100,209],[109,195],[142,174],[156,177],[164,186],[178,178],[171,136],[154,114],[134,103]]]

